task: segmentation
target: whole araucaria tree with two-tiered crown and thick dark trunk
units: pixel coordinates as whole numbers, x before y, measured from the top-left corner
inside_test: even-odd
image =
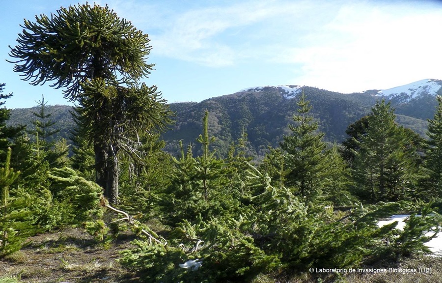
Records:
[[[154,67],[146,63],[148,35],[108,6],[96,4],[60,8],[50,17],[25,20],[22,27],[10,52],[16,59],[14,71],[32,85],[50,81],[78,103],[77,120],[87,127],[83,133],[93,144],[96,182],[116,202],[118,149],[128,148],[129,140],[136,142],[137,131],[162,129],[170,122],[156,87],[137,85]],[[149,106],[140,107],[146,101]],[[133,144],[130,147],[135,152]]]

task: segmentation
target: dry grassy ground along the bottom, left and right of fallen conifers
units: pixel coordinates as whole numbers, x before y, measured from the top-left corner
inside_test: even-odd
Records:
[[[139,275],[125,269],[116,259],[131,248],[134,236],[122,233],[110,245],[98,244],[80,228],[68,228],[29,238],[29,245],[0,260],[0,283],[129,283]],[[388,265],[388,264],[387,264]],[[383,268],[393,272],[341,274],[274,274],[260,276],[254,283],[433,283],[442,282],[442,258],[407,258]],[[418,272],[407,272],[417,269]],[[420,268],[420,270],[419,270]],[[427,268],[427,269],[425,269]],[[429,269],[430,270],[429,270]],[[420,272],[419,272],[420,271]]]

